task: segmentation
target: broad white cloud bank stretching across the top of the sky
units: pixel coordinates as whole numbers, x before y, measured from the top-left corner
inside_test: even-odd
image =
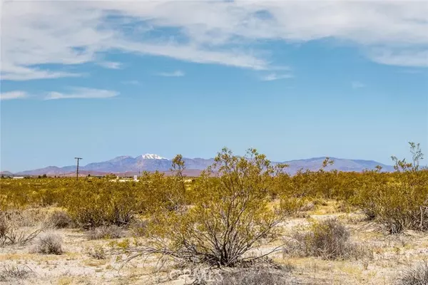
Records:
[[[46,64],[97,62],[109,51],[270,70],[271,51],[252,46],[260,40],[336,38],[377,63],[428,66],[424,1],[6,1],[1,9],[4,80],[76,76]],[[150,32],[163,28],[176,33]]]

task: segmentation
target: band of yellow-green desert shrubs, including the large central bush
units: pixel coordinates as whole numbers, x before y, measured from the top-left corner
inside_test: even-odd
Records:
[[[180,155],[173,159],[172,177],[144,172],[138,182],[111,183],[110,177],[2,179],[0,243],[10,244],[13,239],[7,226],[11,211],[52,205],[66,211],[66,217],[57,214],[57,219],[90,229],[93,236],[108,235],[108,227],[138,219],[136,238],[111,244],[128,259],[154,254],[210,266],[238,266],[284,249],[286,245],[280,244],[265,254],[248,254],[282,240],[280,224],[315,199],[335,199],[344,208],[359,209],[389,234],[407,229],[427,232],[428,170],[420,167],[419,144],[411,142],[410,151],[412,162],[392,157],[395,172],[382,172],[381,167],[326,171],[334,163],[327,157],[320,170],[300,170],[290,176],[284,171],[287,165],[272,165],[257,150],[238,157],[225,148],[213,165],[190,181],[183,175]],[[343,244],[336,252],[320,252],[322,246],[314,246],[320,240],[325,244],[346,240],[348,234],[340,225],[330,221],[314,229],[318,234],[302,239],[307,252],[327,259],[347,256],[350,247]],[[338,238],[330,239],[330,232],[338,232]]]

